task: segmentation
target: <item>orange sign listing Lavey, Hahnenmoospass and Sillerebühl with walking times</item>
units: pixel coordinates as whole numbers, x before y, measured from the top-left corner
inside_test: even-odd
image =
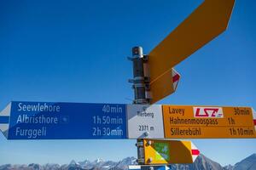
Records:
[[[250,107],[163,105],[165,138],[256,138]]]

